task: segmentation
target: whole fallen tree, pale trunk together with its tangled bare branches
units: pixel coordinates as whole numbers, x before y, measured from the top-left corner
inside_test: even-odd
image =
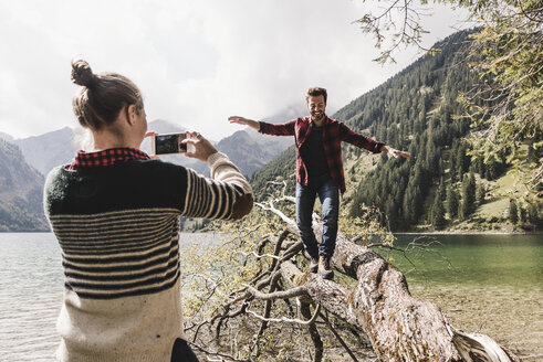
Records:
[[[284,195],[280,200],[293,201]],[[270,223],[275,232],[260,236],[254,249],[233,252],[244,256],[243,265],[249,263],[249,258],[254,258],[253,263],[258,267],[251,269],[252,274],[246,276],[247,281],[240,288],[230,289],[224,301],[213,309],[211,318],[202,319],[188,328],[194,333],[192,345],[207,355],[212,354],[219,361],[260,360],[261,353],[264,353],[262,351],[270,342],[265,331],[273,328],[270,326],[280,323],[297,324],[300,333],[310,336],[309,343],[314,347],[312,360],[315,362],[322,361],[326,353],[321,338],[323,332],[327,333],[324,336],[326,339],[337,339],[340,348],[345,349],[353,361],[367,358],[373,361],[377,358],[380,361],[396,362],[520,361],[491,338],[464,333],[452,327],[438,306],[409,294],[406,278],[400,270],[370,247],[356,244],[342,233],[337,235],[332,266],[336,270],[336,280],[340,279],[338,273],[353,279],[348,287],[302,272],[307,267],[307,260],[300,257],[303,248],[294,221],[275,209],[273,201],[260,206],[278,215],[284,225],[278,231],[278,224]],[[269,221],[269,217],[263,219]],[[246,243],[243,238],[248,234],[262,225],[262,219],[258,220],[255,227],[238,237],[239,246]],[[320,239],[322,223],[316,217],[313,227]],[[208,296],[215,295],[221,283],[220,278],[213,281]],[[286,302],[286,309],[279,307],[279,300]],[[296,302],[292,302],[293,300]],[[313,313],[311,305],[314,306]],[[333,315],[334,320],[327,313]],[[296,316],[299,318],[293,318]],[[249,323],[248,318],[252,320]],[[334,322],[342,323],[344,328],[334,328]],[[210,334],[215,337],[211,339],[201,337],[205,334],[200,333],[201,327],[206,324],[208,330],[213,330]],[[223,332],[224,327],[233,328],[232,326],[237,326],[234,330],[238,333],[241,332],[240,338],[232,338],[231,333]],[[351,347],[344,340],[345,336],[354,336]],[[221,343],[223,338],[231,339],[230,351],[224,349],[228,343]],[[281,337],[278,340],[283,343],[293,342]],[[368,345],[375,353],[374,356],[368,355]],[[306,348],[301,348],[300,351]]]

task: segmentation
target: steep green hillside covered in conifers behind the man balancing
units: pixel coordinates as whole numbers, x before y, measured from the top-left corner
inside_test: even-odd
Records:
[[[507,170],[500,159],[483,163],[468,155],[463,137],[470,124],[455,115],[463,114],[458,96],[471,87],[474,76],[467,64],[469,44],[467,31],[449,36],[436,44],[437,55],[419,58],[332,116],[355,131],[411,152],[408,160],[365,157],[365,150],[344,143],[343,209],[351,216],[361,215],[365,204],[377,206],[395,231],[449,228],[468,220],[493,228],[508,215],[525,227],[537,224],[536,205],[509,204],[500,192],[492,192],[507,182],[501,180]],[[286,180],[293,193],[294,172],[292,147],[253,175],[258,198],[265,198],[271,188],[267,181],[274,180]],[[477,207],[492,202],[502,209],[498,214],[473,215]]]

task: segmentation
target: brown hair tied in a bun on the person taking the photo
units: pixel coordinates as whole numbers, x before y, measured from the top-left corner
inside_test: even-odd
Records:
[[[142,93],[130,79],[117,73],[94,74],[86,61],[72,60],[72,82],[81,85],[72,105],[83,127],[108,126],[125,106],[135,105],[138,115],[144,108]]]

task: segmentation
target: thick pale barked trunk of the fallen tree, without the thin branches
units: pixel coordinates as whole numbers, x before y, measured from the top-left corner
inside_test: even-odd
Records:
[[[272,203],[265,209],[280,215],[292,230],[294,222]],[[313,228],[320,239],[322,223],[314,221]],[[313,302],[362,329],[380,360],[520,361],[491,338],[464,333],[450,326],[438,306],[409,294],[400,270],[341,233],[332,264],[336,270],[358,280],[353,289],[313,274],[303,274],[293,263],[283,262],[280,267],[283,279],[291,286],[303,286],[303,295]]]

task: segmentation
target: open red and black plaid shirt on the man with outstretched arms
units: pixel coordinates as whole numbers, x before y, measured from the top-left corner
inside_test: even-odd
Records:
[[[273,136],[294,136],[296,145],[296,182],[307,184],[307,169],[300,155],[300,148],[311,135],[313,123],[310,117],[289,120],[282,125],[272,125],[261,121],[260,132]],[[330,175],[336,182],[341,192],[345,192],[345,175],[343,173],[342,141],[365,148],[370,152],[379,153],[385,145],[353,131],[337,119],[326,117],[323,125],[324,156],[328,164]]]

